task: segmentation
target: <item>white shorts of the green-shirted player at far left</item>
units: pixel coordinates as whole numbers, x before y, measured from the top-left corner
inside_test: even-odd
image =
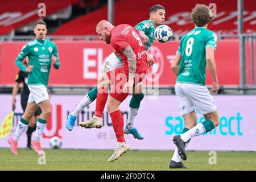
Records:
[[[46,86],[28,85],[28,89],[30,90],[30,95],[28,96],[27,100],[28,103],[36,102],[36,104],[39,104],[40,102],[49,100]]]

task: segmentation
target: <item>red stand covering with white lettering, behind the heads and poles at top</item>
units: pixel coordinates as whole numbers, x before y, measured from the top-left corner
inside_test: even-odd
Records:
[[[254,16],[256,3],[254,0],[243,2],[244,30],[248,33],[256,32],[256,17]],[[127,23],[135,26],[138,22],[148,19],[148,10],[158,3],[166,8],[165,24],[172,28],[175,36],[185,34],[193,28],[190,12],[196,3],[209,5],[212,1],[180,0],[170,3],[169,1],[144,0],[131,3],[130,1],[121,0],[116,2],[114,6],[114,24]],[[217,7],[217,16],[213,19],[209,28],[217,34],[236,34],[237,1],[216,0],[214,3]],[[63,24],[52,35],[96,35],[95,27],[102,19],[108,19],[108,8],[106,6]]]

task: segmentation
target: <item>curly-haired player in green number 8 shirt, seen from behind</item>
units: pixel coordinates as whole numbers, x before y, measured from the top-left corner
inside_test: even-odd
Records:
[[[218,90],[214,60],[217,36],[213,31],[207,30],[213,14],[207,6],[196,5],[191,17],[196,27],[183,36],[172,63],[172,71],[177,75],[175,92],[185,128],[183,134],[173,138],[176,149],[170,168],[187,168],[181,163],[180,158],[187,159],[185,146],[189,140],[211,131],[219,123],[217,106],[205,86],[205,67],[207,66],[213,78],[212,92],[216,93]],[[198,124],[196,124],[196,109],[205,118],[205,121]]]

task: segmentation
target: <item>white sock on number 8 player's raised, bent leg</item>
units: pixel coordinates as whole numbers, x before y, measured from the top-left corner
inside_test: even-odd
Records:
[[[192,137],[199,136],[201,134],[204,134],[205,132],[206,130],[204,125],[202,123],[198,123],[195,127],[192,127],[192,129],[181,134],[180,138],[183,140],[183,142],[187,142]]]

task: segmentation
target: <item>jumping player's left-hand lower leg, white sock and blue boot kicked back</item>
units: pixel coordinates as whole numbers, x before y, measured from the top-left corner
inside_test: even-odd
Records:
[[[76,122],[76,118],[79,116],[81,111],[86,106],[90,105],[94,100],[96,100],[97,93],[98,93],[98,90],[97,90],[97,86],[96,86],[96,88],[92,89],[90,92],[88,92],[86,94],[86,96],[84,96],[84,98],[82,98],[82,100],[79,102],[79,104],[77,104],[76,109],[73,110],[72,113],[68,115],[68,119],[66,121],[66,127],[69,131],[73,130],[73,127]]]

